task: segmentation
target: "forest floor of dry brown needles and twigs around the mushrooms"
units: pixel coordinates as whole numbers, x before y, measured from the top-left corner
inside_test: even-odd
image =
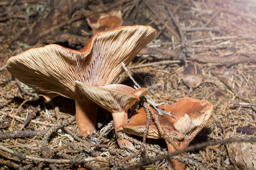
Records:
[[[207,127],[191,146],[255,135],[255,1],[4,0],[0,2],[1,169],[124,169],[167,153],[160,139],[144,143],[126,134],[121,138],[137,150],[120,149],[112,118],[104,109],[98,111],[96,133],[80,135],[72,100],[56,97],[45,103],[5,68],[8,58],[28,48],[55,43],[81,49],[92,36],[86,18],[113,9],[122,11],[123,25],[151,25],[158,31],[127,67],[152,99],[172,104],[193,97],[212,103]],[[181,76],[188,66],[194,81],[190,85]],[[125,72],[116,83],[134,85]],[[250,152],[242,151],[245,146]],[[251,164],[255,142],[219,143],[175,159],[186,163],[186,169],[249,169],[256,166]],[[168,161],[156,160],[145,168],[168,169]]]

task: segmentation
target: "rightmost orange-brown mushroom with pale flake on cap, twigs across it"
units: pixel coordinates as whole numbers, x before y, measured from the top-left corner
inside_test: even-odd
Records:
[[[193,138],[204,128],[210,114],[212,113],[212,104],[206,100],[197,100],[192,98],[183,98],[172,105],[159,105],[163,111],[174,114],[175,118],[166,114],[158,116],[158,112],[153,108],[154,114],[158,116],[160,126],[164,131],[173,137],[177,147],[183,149],[189,145]],[[117,131],[122,131],[127,134],[134,134],[143,137],[146,127],[146,111],[140,108],[137,114],[131,117],[129,124],[120,126]],[[158,139],[163,138],[156,125],[150,120],[150,126],[146,138]],[[167,143],[168,152],[174,152],[175,148],[170,143]],[[169,159],[170,168],[185,169],[185,164],[177,160]]]

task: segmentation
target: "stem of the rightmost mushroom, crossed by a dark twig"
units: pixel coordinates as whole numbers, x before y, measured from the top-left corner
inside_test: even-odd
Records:
[[[166,142],[166,143],[167,143],[169,153],[176,151],[174,146],[171,145],[171,143],[168,143],[168,142]],[[181,150],[189,145],[189,142],[175,142],[175,143]],[[168,162],[169,162],[169,169],[183,170],[186,167],[186,164],[181,163],[181,162],[177,161],[176,159],[169,159]]]

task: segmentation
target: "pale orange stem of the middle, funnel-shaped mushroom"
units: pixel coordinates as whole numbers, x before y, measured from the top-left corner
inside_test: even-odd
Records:
[[[119,126],[127,124],[128,115],[126,112],[115,112],[112,113],[112,116],[114,121],[115,136],[117,137],[117,129],[119,128]],[[117,139],[117,143],[121,148],[123,145],[125,145],[130,150],[134,150],[133,143],[127,141],[126,139]]]

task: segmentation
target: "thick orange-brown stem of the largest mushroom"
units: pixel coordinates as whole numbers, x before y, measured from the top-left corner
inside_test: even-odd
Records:
[[[80,133],[90,134],[95,130],[97,104],[85,96],[76,98],[76,124]]]

